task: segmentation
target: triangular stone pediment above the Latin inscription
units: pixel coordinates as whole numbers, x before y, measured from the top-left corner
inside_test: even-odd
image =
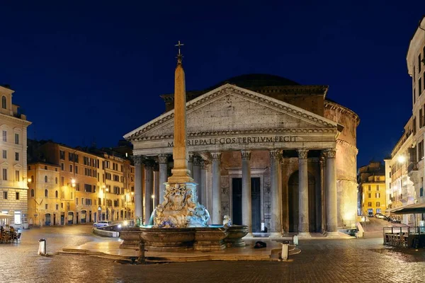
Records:
[[[320,115],[261,93],[225,84],[186,103],[188,137],[205,133],[227,134],[336,133],[337,124]],[[169,139],[173,136],[174,110],[147,122],[124,137],[130,141]]]

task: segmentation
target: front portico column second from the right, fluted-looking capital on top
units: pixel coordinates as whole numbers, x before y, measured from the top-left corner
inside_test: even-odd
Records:
[[[300,224],[298,225],[298,236],[310,236],[308,219],[307,153],[307,149],[298,149],[298,203],[300,210]]]

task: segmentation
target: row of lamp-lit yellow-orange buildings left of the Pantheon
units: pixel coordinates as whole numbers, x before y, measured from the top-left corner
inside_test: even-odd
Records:
[[[98,149],[31,141],[30,223],[38,226],[120,221],[134,215],[134,167]],[[34,157],[33,157],[34,159]]]

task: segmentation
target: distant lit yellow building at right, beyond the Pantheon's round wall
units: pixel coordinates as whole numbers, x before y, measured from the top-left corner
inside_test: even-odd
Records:
[[[370,162],[361,167],[358,175],[359,192],[361,192],[361,213],[375,215],[385,213],[385,166],[380,162]]]

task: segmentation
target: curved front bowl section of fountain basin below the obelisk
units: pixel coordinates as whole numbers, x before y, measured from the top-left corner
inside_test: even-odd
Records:
[[[154,251],[179,251],[193,249],[196,228],[140,227],[145,248]]]

